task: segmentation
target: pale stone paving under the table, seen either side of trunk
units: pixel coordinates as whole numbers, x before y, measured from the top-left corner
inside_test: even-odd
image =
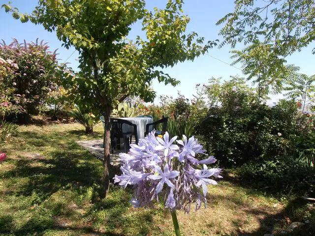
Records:
[[[86,140],[86,141],[76,141],[78,145],[82,148],[89,150],[93,155],[96,156],[97,159],[103,161],[104,160],[104,148],[103,148],[103,140]],[[119,166],[121,163],[118,160],[119,152],[110,154],[110,164],[113,166]]]

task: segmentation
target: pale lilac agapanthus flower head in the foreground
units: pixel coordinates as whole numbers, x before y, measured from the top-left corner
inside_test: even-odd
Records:
[[[128,153],[121,153],[122,175],[115,176],[115,183],[126,187],[133,185],[134,196],[130,201],[134,207],[152,205],[154,200],[164,200],[171,210],[190,211],[206,206],[208,185],[216,185],[211,177],[221,178],[221,169],[208,168],[207,164],[217,161],[214,156],[198,160],[196,154],[207,155],[194,137],[183,135],[169,139],[166,132],[163,139],[152,131],[138,145],[131,145]],[[175,141],[177,142],[176,145]]]

